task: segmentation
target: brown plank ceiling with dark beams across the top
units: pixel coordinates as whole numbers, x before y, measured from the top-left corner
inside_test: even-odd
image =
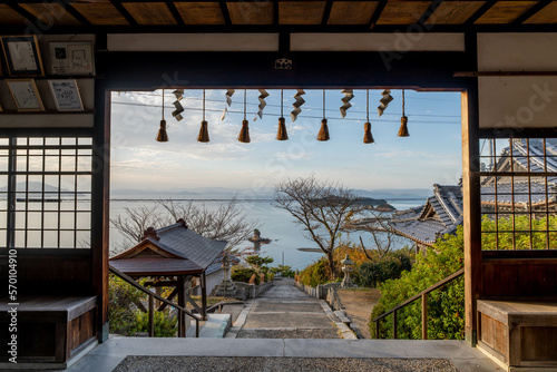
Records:
[[[426,26],[427,30],[532,27],[557,23],[557,1],[410,0],[20,0],[0,2],[0,28],[56,32],[60,28],[165,30],[188,28],[387,29]],[[400,29],[403,31],[404,29]]]

